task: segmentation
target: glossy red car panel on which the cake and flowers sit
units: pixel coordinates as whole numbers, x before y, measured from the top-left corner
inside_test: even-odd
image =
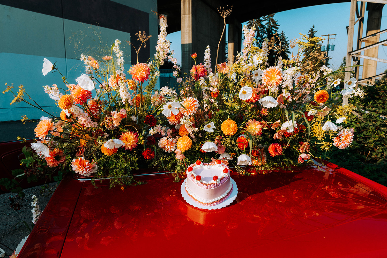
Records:
[[[384,186],[333,164],[232,178],[219,210],[166,175],[124,190],[64,179],[18,257],[387,257]]]

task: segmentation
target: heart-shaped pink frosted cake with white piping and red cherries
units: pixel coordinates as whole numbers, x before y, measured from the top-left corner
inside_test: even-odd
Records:
[[[197,161],[188,166],[186,171],[185,191],[201,205],[217,205],[226,200],[233,191],[228,166],[220,160],[212,163]]]

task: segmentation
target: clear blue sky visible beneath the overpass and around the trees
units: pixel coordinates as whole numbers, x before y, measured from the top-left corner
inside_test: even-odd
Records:
[[[360,4],[360,3],[359,3]],[[346,26],[349,24],[349,8],[351,3],[333,3],[327,5],[315,5],[312,7],[303,7],[284,12],[278,12],[274,15],[279,26],[279,32],[284,31],[289,39],[299,38],[300,34],[308,34],[309,29],[314,25],[317,36],[326,34],[336,34],[336,39],[329,41],[329,44],[335,44],[335,50],[329,52],[330,67],[337,68],[346,55],[347,50],[347,31]],[[381,29],[387,28],[387,5],[385,5],[384,16],[382,17]],[[366,30],[367,14],[365,13],[364,35]],[[355,37],[357,32],[355,25]],[[227,35],[227,34],[226,34]],[[380,40],[386,39],[387,33],[380,35]],[[168,34],[167,39],[172,42],[171,48],[175,51],[175,57],[181,63],[181,32]],[[227,39],[227,38],[226,38]],[[327,41],[324,42],[325,45]],[[355,44],[355,43],[354,43]],[[363,44],[364,46],[364,44]],[[356,47],[356,45],[354,45]],[[379,46],[379,58],[387,59],[386,46]],[[363,54],[363,53],[362,53]],[[387,69],[387,63],[378,63],[377,73],[382,73]]]

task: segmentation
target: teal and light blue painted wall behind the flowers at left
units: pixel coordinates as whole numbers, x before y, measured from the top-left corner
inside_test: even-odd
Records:
[[[115,1],[139,9],[137,1]],[[128,2],[134,2],[129,5]],[[141,1],[141,9],[151,12],[157,9],[157,3]],[[147,48],[154,55],[157,44],[157,17],[149,15],[149,31],[152,38]],[[51,15],[40,14],[28,10],[0,5],[0,91],[5,89],[4,84],[13,83],[15,91],[22,84],[27,93],[43,109],[58,116],[60,109],[55,102],[44,92],[43,85],[57,84],[59,88],[66,88],[58,72],[41,73],[43,58],[52,63],[56,62],[58,69],[67,77],[69,83],[84,72],[84,64],[79,60],[80,54],[91,54],[96,48],[107,46],[110,48],[115,39],[120,39],[124,51],[126,69],[130,66],[130,33],[114,29],[93,26],[76,21],[62,19]],[[81,36],[77,36],[82,34]],[[100,35],[100,37],[98,36]],[[94,55],[95,56],[95,55]],[[66,88],[67,89],[67,88]],[[63,92],[62,92],[63,93]],[[26,95],[25,95],[26,96]],[[93,94],[95,96],[95,92]],[[27,97],[27,96],[26,96]],[[39,119],[47,115],[26,103],[10,106],[14,97],[10,92],[0,96],[0,121],[20,120],[22,115],[29,119]]]

